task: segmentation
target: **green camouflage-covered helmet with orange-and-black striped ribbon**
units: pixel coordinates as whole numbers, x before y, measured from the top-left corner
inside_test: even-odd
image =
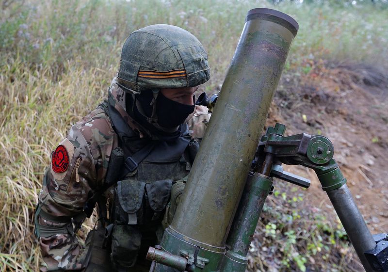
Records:
[[[118,83],[142,89],[194,87],[210,79],[208,55],[190,32],[172,25],[151,25],[132,32],[121,51]]]

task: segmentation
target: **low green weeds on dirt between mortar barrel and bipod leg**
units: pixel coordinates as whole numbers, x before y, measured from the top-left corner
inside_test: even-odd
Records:
[[[356,271],[339,219],[330,221],[332,215],[309,206],[294,185],[276,182],[275,188],[251,244],[251,271]]]

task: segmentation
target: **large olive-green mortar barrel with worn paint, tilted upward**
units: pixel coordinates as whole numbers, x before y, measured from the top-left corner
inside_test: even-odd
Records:
[[[248,12],[210,123],[170,225],[172,233],[222,251],[297,22],[281,12]],[[227,34],[227,33],[226,33]]]

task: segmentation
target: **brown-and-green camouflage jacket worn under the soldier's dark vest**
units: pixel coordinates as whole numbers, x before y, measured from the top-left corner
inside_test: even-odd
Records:
[[[129,127],[140,138],[145,137],[147,131],[126,112],[126,93],[117,85],[116,78],[109,93],[114,98],[114,108]],[[203,130],[199,129],[199,133]],[[35,219],[42,256],[48,267],[42,271],[81,271],[85,267],[86,250],[73,234],[73,223],[82,214],[90,195],[103,186],[111,152],[118,142],[109,116],[102,107],[97,107],[70,128],[65,140],[52,153]]]

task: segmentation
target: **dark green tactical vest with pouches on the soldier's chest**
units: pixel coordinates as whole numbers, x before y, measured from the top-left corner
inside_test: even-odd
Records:
[[[187,125],[187,132],[171,142],[141,139],[114,107],[106,102],[100,106],[119,136],[119,147],[110,158],[105,190],[97,199],[100,220],[106,229],[103,247],[110,252],[116,271],[130,271],[138,256],[143,260],[148,247],[160,242],[162,221],[172,220],[172,213],[166,212],[171,189],[175,188],[175,204],[199,145],[191,139]]]

